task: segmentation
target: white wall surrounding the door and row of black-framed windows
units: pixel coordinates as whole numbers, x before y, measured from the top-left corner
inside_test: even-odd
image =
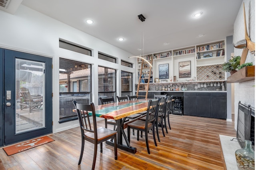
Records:
[[[14,15],[0,10],[0,23],[0,47],[53,58],[53,133],[78,125],[78,121],[58,123],[60,57],[92,64],[92,101],[96,105],[98,105],[98,65],[117,70],[117,95],[121,94],[121,70],[136,73],[134,68],[120,65],[121,59],[136,63],[136,59],[128,59],[132,54],[26,6],[20,5]],[[59,48],[59,38],[92,49],[93,57]],[[119,64],[98,59],[98,51],[118,57]]]

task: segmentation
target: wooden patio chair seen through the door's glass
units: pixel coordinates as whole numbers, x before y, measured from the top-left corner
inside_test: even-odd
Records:
[[[34,109],[40,109],[43,105],[43,97],[40,95],[30,95],[28,88],[20,88],[20,109],[29,108],[29,113]]]

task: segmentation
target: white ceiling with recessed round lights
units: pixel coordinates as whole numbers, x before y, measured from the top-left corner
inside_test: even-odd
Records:
[[[134,55],[143,55],[233,35],[242,0],[23,0],[21,4]],[[203,15],[193,18],[196,12]],[[144,22],[138,19],[139,14],[146,17]],[[88,25],[86,19],[94,23]],[[200,34],[204,36],[198,37]],[[124,41],[118,41],[119,37]]]

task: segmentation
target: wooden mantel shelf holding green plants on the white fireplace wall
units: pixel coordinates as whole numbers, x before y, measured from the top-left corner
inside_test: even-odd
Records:
[[[227,83],[240,83],[255,79],[255,66],[245,66],[227,78]]]

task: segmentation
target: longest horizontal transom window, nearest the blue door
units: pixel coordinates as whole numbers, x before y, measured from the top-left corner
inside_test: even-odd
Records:
[[[72,42],[64,40],[64,39],[59,39],[59,47],[62,49],[67,49],[67,50],[74,51],[77,53],[92,56],[92,50],[86,49],[85,47],[82,47],[81,45],[72,43]]]

